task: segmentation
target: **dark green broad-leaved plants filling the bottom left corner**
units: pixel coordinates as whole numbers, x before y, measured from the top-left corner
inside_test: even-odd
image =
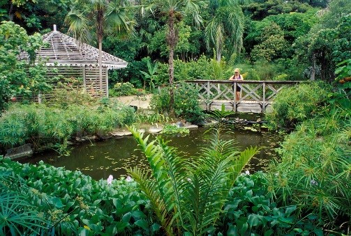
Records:
[[[130,178],[92,180],[0,157],[1,235],[151,235],[148,200]]]

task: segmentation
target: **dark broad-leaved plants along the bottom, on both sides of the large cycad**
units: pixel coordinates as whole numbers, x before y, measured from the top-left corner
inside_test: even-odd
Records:
[[[230,187],[214,234],[321,235],[313,214],[302,221],[296,206],[279,207],[266,196],[264,186],[263,173],[239,175]],[[37,166],[19,164],[0,157],[0,233],[8,235],[10,228],[17,228],[17,235],[162,234],[156,212],[151,211],[154,203],[138,189],[130,178],[113,180],[110,176],[96,181],[80,171],[42,162]],[[9,212],[13,207],[17,211]],[[206,224],[202,221],[202,228]]]

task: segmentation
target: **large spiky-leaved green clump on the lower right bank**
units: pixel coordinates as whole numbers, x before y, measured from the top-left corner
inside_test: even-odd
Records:
[[[272,198],[297,205],[299,214],[318,216],[325,228],[346,232],[351,219],[348,113],[305,120],[283,142],[281,163],[272,164],[267,180]]]

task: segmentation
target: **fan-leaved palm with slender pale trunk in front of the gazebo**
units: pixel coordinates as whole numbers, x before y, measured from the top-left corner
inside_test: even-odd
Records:
[[[126,37],[133,31],[133,21],[128,15],[130,1],[109,1],[109,0],[78,0],[66,15],[65,23],[68,24],[68,32],[80,42],[89,41],[89,29],[91,24],[96,28],[98,39],[98,64],[100,91],[103,90],[103,35],[105,31],[114,31],[119,36]],[[78,10],[85,8],[86,10]]]

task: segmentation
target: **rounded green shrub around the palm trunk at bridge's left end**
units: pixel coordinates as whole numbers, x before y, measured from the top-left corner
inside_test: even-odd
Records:
[[[150,106],[159,113],[169,112],[170,93],[168,89],[162,88],[158,94],[153,95]],[[191,123],[200,123],[204,119],[204,112],[197,101],[197,90],[189,84],[179,84],[174,90],[174,111],[178,118],[184,118]]]

